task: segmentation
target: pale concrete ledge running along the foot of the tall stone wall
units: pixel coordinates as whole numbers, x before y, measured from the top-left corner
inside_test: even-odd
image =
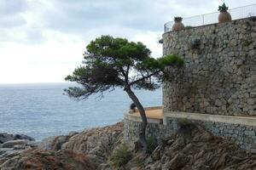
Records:
[[[206,122],[225,122],[230,124],[241,124],[246,126],[256,126],[256,116],[222,116],[201,113],[190,113],[181,111],[164,111],[164,124],[166,117],[184,118]]]

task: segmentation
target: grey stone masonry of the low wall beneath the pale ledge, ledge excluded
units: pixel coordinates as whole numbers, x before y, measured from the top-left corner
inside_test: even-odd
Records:
[[[215,136],[230,139],[241,148],[249,150],[256,146],[256,127],[241,124],[231,124],[224,122],[203,122],[186,120],[195,124],[200,124],[208,132]],[[178,118],[167,117],[166,125],[158,123],[148,123],[147,137],[153,136],[156,139],[167,138],[179,128]],[[131,147],[138,139],[141,122],[125,119],[124,139]]]

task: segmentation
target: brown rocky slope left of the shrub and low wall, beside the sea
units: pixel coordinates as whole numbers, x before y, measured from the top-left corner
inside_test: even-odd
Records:
[[[9,155],[0,158],[0,169],[108,169],[108,156],[122,139],[123,123],[119,122],[113,126],[92,128],[82,133],[72,132],[66,136],[49,137],[38,144],[38,149],[14,152],[13,148],[6,147],[2,150]],[[16,142],[19,143],[19,140]],[[15,141],[4,145],[18,146]]]

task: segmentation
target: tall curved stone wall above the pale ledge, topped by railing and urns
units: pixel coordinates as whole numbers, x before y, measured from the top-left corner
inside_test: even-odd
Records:
[[[169,68],[165,111],[256,115],[256,21],[199,26],[163,35],[164,54],[179,54],[182,69]]]

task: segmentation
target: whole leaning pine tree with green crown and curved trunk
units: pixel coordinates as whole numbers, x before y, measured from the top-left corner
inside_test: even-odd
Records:
[[[132,89],[154,90],[160,88],[167,65],[183,65],[177,55],[154,59],[151,51],[142,42],[129,42],[124,38],[102,36],[91,41],[84,52],[84,65],[67,76],[66,81],[78,82],[81,87],[65,89],[69,97],[87,99],[91,94],[102,94],[114,88],[124,88],[142,117],[143,124],[139,141],[147,150],[145,130],[147,117],[140,100]]]

